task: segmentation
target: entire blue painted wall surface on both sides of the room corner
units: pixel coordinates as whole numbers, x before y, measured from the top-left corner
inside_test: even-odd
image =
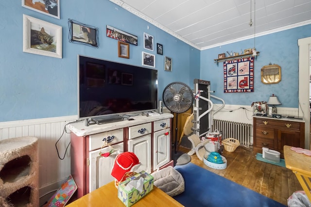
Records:
[[[253,39],[200,51],[108,0],[62,0],[60,6],[61,19],[56,19],[22,7],[19,0],[0,1],[0,122],[76,115],[78,54],[139,66],[142,51],[155,54],[160,100],[169,83],[182,81],[193,88],[193,79],[199,78],[210,80],[214,95],[226,104],[250,105],[276,94],[281,107],[298,107],[297,40],[310,36],[311,25],[256,37],[260,55],[254,64],[254,92],[225,94],[223,65],[214,59],[225,51],[252,48]],[[63,27],[62,59],[22,51],[23,14]],[[68,19],[98,27],[99,48],[69,43]],[[130,45],[130,59],[118,57],[118,41],[106,37],[106,25],[138,36],[138,46]],[[143,32],[163,45],[163,56],[143,48]],[[172,72],[164,71],[165,55],[173,59]],[[270,62],[282,67],[278,84],[260,81],[261,67]]]

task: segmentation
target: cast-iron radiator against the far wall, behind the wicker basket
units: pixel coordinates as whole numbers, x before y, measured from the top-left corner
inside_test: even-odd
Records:
[[[218,129],[218,131],[223,132],[223,140],[234,138],[239,140],[240,144],[250,148],[251,127],[251,124],[213,119],[212,131]]]

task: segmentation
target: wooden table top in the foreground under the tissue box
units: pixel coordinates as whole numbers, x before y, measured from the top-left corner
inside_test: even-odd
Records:
[[[142,197],[132,207],[147,206],[183,207],[183,205],[155,186],[152,191]],[[66,205],[66,207],[125,207],[125,205],[118,198],[118,189],[115,187],[114,181],[112,181]]]

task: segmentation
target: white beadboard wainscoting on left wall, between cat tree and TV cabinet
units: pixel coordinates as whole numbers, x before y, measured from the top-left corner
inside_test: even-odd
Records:
[[[39,141],[39,195],[60,188],[61,183],[70,175],[70,131],[61,137],[64,127],[75,121],[77,116],[46,119],[22,120],[0,123],[0,140],[14,137],[34,136]],[[61,138],[60,138],[61,137]],[[55,147],[61,158],[59,159]],[[65,155],[65,157],[64,157]]]

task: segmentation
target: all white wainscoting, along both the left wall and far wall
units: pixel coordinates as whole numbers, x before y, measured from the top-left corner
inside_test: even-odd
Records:
[[[214,104],[216,110],[220,107]],[[243,109],[244,108],[244,109]],[[164,108],[163,111],[166,112]],[[169,111],[167,111],[169,112]],[[277,108],[280,114],[298,114],[296,108]],[[213,115],[214,119],[253,124],[253,108],[251,106],[225,105],[221,111]],[[76,121],[77,116],[65,116],[46,119],[22,120],[0,123],[0,140],[22,136],[35,136],[39,139],[39,194],[40,196],[57,190],[64,179],[70,175],[70,147],[64,157],[66,147],[70,143],[70,131],[63,133],[66,124]],[[62,137],[61,137],[62,136]],[[57,140],[59,159],[55,147]]]

